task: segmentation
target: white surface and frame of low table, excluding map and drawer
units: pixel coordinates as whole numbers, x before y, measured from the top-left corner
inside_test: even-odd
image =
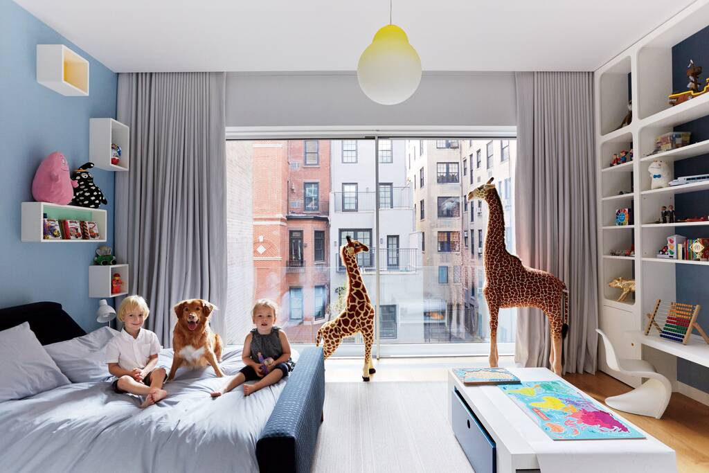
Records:
[[[546,368],[508,367],[522,382],[562,381]],[[448,371],[448,421],[451,392],[457,389],[496,443],[497,472],[676,473],[675,452],[644,430],[644,439],[552,440],[498,386],[465,386]],[[574,388],[576,389],[576,388]],[[610,408],[609,408],[610,411]],[[625,418],[618,416],[626,423]],[[629,423],[632,425],[632,423]]]

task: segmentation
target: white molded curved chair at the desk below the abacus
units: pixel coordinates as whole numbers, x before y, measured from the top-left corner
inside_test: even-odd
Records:
[[[656,372],[655,368],[644,360],[618,360],[608,336],[598,328],[596,328],[596,332],[603,338],[605,362],[610,369],[628,376],[648,378],[640,387],[630,392],[605,398],[605,404],[618,409],[618,411],[661,418],[672,395],[672,385],[669,379]]]

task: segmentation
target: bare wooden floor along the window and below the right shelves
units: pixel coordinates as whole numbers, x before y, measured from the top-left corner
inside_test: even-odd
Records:
[[[383,358],[375,360],[372,382],[440,381],[452,367],[487,366],[487,357]],[[500,366],[514,366],[511,357],[500,357]],[[330,359],[325,362],[325,382],[353,382],[362,379],[362,359]],[[603,403],[608,396],[632,388],[608,374],[568,374],[566,381]],[[672,394],[661,419],[620,412],[628,421],[674,448],[679,473],[709,473],[709,406],[679,393]]]

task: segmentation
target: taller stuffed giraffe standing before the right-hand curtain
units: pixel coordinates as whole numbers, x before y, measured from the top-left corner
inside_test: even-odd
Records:
[[[489,208],[483,256],[486,279],[483,294],[490,311],[490,366],[496,367],[498,362],[498,311],[506,307],[535,307],[540,308],[549,318],[552,335],[549,364],[554,373],[560,375],[562,338],[568,330],[569,291],[553,274],[526,267],[518,257],[507,252],[502,203],[492,182],[491,178],[486,184],[468,193],[468,200],[484,200]]]

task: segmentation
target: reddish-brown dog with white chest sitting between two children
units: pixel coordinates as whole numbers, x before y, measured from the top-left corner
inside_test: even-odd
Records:
[[[209,315],[216,310],[214,304],[203,299],[187,299],[174,306],[177,315],[172,334],[174,357],[167,381],[174,378],[181,366],[214,368],[217,377],[224,373],[219,367],[221,362],[222,341],[209,326]]]

